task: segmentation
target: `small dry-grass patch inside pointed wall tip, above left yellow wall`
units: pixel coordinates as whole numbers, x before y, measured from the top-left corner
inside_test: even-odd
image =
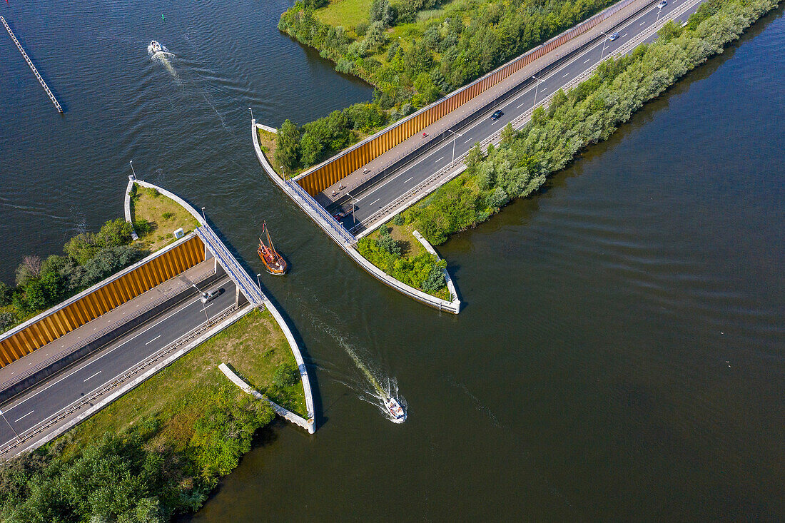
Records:
[[[199,226],[199,221],[179,203],[138,184],[133,185],[131,193],[131,220],[141,247],[151,252],[176,241],[173,232],[177,229],[188,234]]]

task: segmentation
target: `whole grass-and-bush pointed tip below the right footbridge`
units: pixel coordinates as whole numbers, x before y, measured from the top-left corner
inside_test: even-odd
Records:
[[[396,280],[449,302],[450,291],[444,281],[447,262],[425,251],[412,236],[412,230],[411,222],[396,216],[389,224],[361,238],[357,251]]]

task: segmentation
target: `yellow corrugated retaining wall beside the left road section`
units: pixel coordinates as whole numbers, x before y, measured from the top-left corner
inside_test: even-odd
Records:
[[[173,247],[152,258],[115,280],[98,284],[89,294],[79,300],[53,310],[34,324],[0,340],[0,367],[18,360],[53,342],[77,327],[95,320],[118,305],[128,302],[159,283],[170,280],[186,269],[204,261],[204,244],[199,236]]]

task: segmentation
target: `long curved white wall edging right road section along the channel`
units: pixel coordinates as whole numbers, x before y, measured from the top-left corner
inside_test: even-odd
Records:
[[[261,152],[261,148],[259,147],[259,142],[256,138],[256,120],[251,121],[251,141],[254,143],[254,151],[256,152],[257,159],[259,163],[261,163],[262,168],[265,170],[265,173],[276,183],[276,185],[281,188],[283,192],[289,196],[294,203],[297,203],[298,207],[305,211],[305,214],[308,215],[313,221],[316,222],[316,225],[324,231],[327,232],[327,236],[330,236],[335,243],[338,243],[338,247],[341,247],[346,254],[349,254],[349,258],[357,264],[360,265],[363,269],[367,272],[371,273],[371,276],[374,276],[377,280],[385,283],[389,287],[392,287],[396,291],[399,291],[402,294],[406,294],[410,298],[414,298],[418,302],[425,303],[425,305],[430,305],[431,307],[439,310],[444,310],[449,313],[458,314],[461,309],[461,302],[454,301],[454,302],[447,302],[441,298],[436,298],[436,296],[431,296],[428,293],[420,291],[419,289],[415,289],[403,283],[399,280],[396,280],[392,276],[386,274],[382,269],[379,269],[376,265],[369,262],[367,259],[363,258],[359,252],[354,248],[354,242],[349,243],[346,240],[346,236],[349,235],[349,232],[346,232],[343,229],[343,226],[332,219],[332,217],[327,214],[327,211],[324,211],[319,203],[316,203],[311,196],[306,194],[304,191],[298,191],[297,188],[294,188],[294,182],[287,182],[283,181],[281,177],[276,174],[275,170],[272,170],[272,166],[268,163],[267,159],[265,158],[265,154]],[[306,198],[310,200],[306,200]],[[318,209],[322,209],[323,212],[319,212]],[[337,229],[341,228],[339,232]],[[354,236],[351,236],[352,239]]]

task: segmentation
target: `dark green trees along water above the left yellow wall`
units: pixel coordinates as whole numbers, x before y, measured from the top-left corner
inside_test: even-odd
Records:
[[[150,229],[144,220],[134,225],[140,233]],[[131,245],[132,232],[130,223],[117,218],[95,234],[82,232],[68,240],[62,255],[52,254],[45,260],[25,256],[16,268],[15,285],[0,282],[0,332],[142,258],[147,253]]]

